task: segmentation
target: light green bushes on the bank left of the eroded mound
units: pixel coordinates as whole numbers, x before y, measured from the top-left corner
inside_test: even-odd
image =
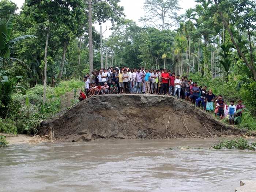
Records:
[[[0,132],[36,133],[42,120],[60,111],[60,95],[67,92],[76,93],[83,86],[84,82],[70,80],[62,81],[56,87],[47,87],[46,103],[42,102],[44,93],[42,85],[36,85],[25,92],[19,91],[17,94],[12,94],[10,105],[8,105],[10,110],[4,119],[0,118]]]

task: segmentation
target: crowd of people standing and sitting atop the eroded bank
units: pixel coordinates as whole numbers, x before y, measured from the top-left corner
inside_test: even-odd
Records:
[[[85,89],[80,91],[79,100],[100,94],[158,94],[170,95],[191,102],[208,112],[214,112],[221,119],[229,117],[234,124],[236,110],[244,108],[242,101],[235,106],[234,101],[227,105],[222,95],[215,95],[207,86],[198,86],[197,82],[180,77],[166,69],[108,68],[91,72],[84,76]],[[242,111],[236,115],[242,116]]]

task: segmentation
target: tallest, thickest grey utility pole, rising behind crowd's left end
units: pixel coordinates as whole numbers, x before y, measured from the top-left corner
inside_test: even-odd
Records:
[[[89,22],[89,65],[90,74],[93,71],[93,29],[92,29],[92,18],[91,18],[91,0],[88,0],[88,22]]]

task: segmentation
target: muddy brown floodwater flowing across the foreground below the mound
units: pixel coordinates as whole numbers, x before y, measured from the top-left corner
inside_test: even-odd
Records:
[[[99,140],[0,149],[0,191],[234,192],[255,179],[256,151],[218,140]],[[190,146],[188,150],[170,147]]]

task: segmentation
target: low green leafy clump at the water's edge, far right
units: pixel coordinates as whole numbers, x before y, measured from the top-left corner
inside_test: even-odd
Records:
[[[214,149],[236,148],[239,150],[244,150],[244,149],[256,150],[256,142],[249,144],[248,141],[242,137],[240,137],[239,139],[232,139],[232,140],[224,139],[221,143],[213,146],[212,148],[214,148]]]

